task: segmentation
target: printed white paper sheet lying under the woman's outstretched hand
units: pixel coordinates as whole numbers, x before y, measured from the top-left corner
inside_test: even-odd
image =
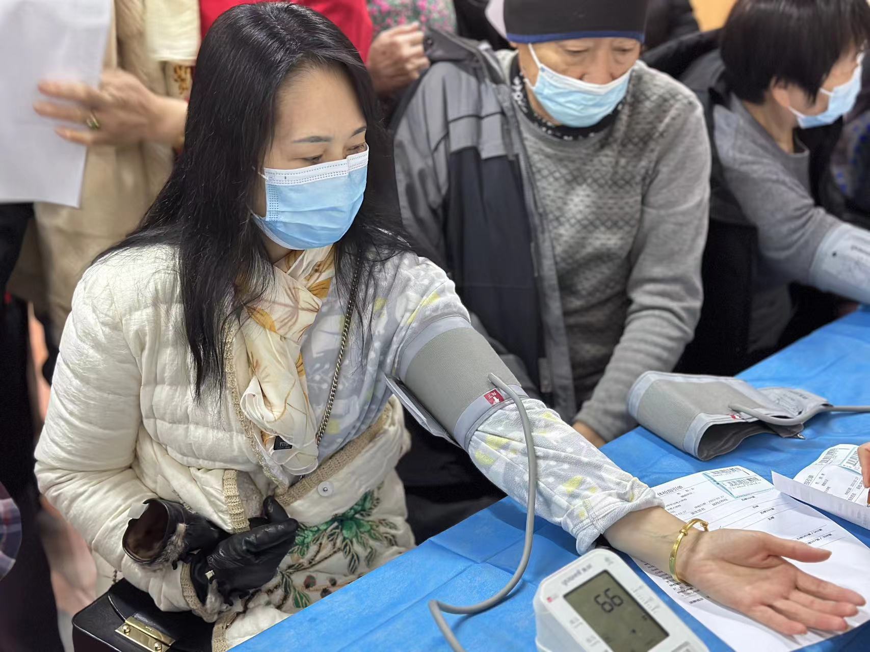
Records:
[[[858,591],[870,599],[870,573],[856,572],[856,569],[870,568],[870,549],[827,516],[781,494],[770,482],[752,471],[743,467],[705,471],[666,482],[655,489],[674,516],[686,521],[704,519],[711,530],[753,529],[831,550],[833,555],[826,562],[794,563],[808,573]],[[649,564],[638,562],[638,565],[679,606],[733,649],[790,652],[831,637],[814,631],[800,636],[777,634],[773,629],[711,601],[698,590],[674,582],[670,575]],[[853,626],[868,620],[870,609],[867,607],[847,619]]]

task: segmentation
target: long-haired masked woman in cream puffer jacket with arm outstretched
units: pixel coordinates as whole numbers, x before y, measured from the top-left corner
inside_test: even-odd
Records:
[[[444,272],[391,223],[371,79],[291,3],[220,17],[185,149],[140,228],[84,275],[37,450],[41,489],[106,576],[216,622],[226,649],[412,547],[394,470],[396,376],[486,475],[527,494],[518,383]],[[521,391],[521,390],[520,390]],[[538,512],[668,568],[684,523],[524,398]],[[675,572],[780,631],[846,629],[860,595],[783,558],[824,551],[692,530]],[[822,598],[833,602],[819,602]]]

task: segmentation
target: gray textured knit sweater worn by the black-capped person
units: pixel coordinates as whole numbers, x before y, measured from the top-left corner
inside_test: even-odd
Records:
[[[505,71],[511,57],[501,55]],[[550,223],[577,420],[610,441],[633,427],[628,390],[671,370],[693,337],[710,198],[701,106],[638,63],[616,121],[564,141],[520,118]]]

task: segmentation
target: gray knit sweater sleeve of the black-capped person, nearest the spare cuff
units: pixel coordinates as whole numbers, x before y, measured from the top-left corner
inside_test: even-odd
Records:
[[[628,390],[649,370],[670,371],[692,340],[703,289],[710,142],[700,104],[669,116],[631,251],[625,329],[604,376],[577,415],[607,441],[632,429]],[[678,123],[679,118],[679,123]],[[665,128],[665,127],[663,127]]]

